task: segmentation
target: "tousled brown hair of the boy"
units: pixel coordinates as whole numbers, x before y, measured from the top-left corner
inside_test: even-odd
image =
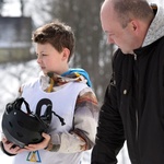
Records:
[[[49,43],[59,52],[61,52],[63,48],[68,48],[70,50],[68,61],[72,57],[75,46],[72,28],[58,20],[38,27],[33,33],[32,40],[38,44]]]

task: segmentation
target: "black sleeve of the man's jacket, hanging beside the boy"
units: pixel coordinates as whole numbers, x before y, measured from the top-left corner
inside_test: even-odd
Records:
[[[96,143],[92,151],[92,164],[116,164],[117,154],[124,145],[122,121],[118,112],[114,73],[107,86],[99,112]]]

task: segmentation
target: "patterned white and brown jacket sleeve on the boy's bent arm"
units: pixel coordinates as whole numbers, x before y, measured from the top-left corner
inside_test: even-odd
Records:
[[[60,133],[59,141],[54,137],[54,144],[60,144],[59,153],[78,153],[91,150],[95,142],[98,119],[97,98],[87,87],[81,91],[75,105],[73,127],[70,131]]]

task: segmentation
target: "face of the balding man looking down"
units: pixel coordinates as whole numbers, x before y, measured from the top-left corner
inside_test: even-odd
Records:
[[[102,27],[107,34],[107,42],[117,45],[124,54],[132,54],[136,38],[131,25],[129,23],[126,27],[122,27],[112,2],[107,3],[105,2],[101,10]]]

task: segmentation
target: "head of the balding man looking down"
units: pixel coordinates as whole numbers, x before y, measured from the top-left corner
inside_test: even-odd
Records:
[[[145,0],[105,0],[101,9],[102,27],[108,43],[116,44],[124,54],[142,46],[153,11]]]

